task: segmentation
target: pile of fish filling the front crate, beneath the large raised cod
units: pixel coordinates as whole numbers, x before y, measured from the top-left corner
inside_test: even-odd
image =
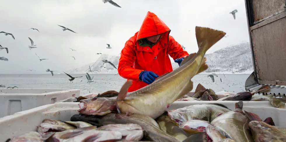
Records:
[[[165,111],[158,118],[109,113],[76,114],[71,121],[45,119],[37,132],[15,136],[10,142],[266,142],[286,141],[286,128],[271,117],[264,121],[244,111],[243,101],[235,111],[222,104],[199,104]],[[9,141],[7,140],[7,142]]]

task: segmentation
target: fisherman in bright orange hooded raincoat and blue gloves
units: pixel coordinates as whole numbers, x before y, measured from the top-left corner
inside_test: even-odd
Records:
[[[159,76],[173,71],[169,55],[179,65],[188,56],[170,36],[169,27],[157,15],[147,12],[141,28],[121,50],[118,74],[132,80],[128,92],[151,84]]]

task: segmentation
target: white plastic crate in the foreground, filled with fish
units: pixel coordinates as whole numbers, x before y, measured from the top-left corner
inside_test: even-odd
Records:
[[[168,110],[195,104],[218,103],[234,110],[238,101],[177,101]],[[79,114],[79,103],[55,103],[0,118],[0,138],[6,140],[29,131],[36,131],[44,119],[70,121],[71,116]],[[276,126],[286,127],[285,108],[274,108],[268,101],[243,101],[243,110],[257,114],[262,120],[272,117]]]

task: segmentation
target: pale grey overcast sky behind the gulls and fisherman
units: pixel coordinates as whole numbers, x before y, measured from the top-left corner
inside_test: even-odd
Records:
[[[118,55],[125,42],[140,29],[147,11],[155,13],[171,29],[170,35],[197,52],[195,26],[210,27],[229,35],[207,53],[232,44],[249,42],[244,0],[114,0],[122,8],[102,0],[6,0],[0,4],[0,74],[66,71],[95,62],[100,55]],[[237,9],[236,20],[229,14]],[[75,32],[62,31],[65,26]],[[30,28],[39,29],[28,30]],[[191,31],[189,31],[191,30]],[[32,38],[38,48],[29,50]],[[106,43],[112,49],[106,48]],[[76,51],[72,51],[72,48]],[[42,62],[35,53],[48,60]],[[74,56],[74,60],[71,56]],[[29,72],[26,70],[36,70]]]

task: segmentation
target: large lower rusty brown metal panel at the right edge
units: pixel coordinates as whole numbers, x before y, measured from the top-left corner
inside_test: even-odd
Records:
[[[250,27],[259,84],[286,85],[286,17],[281,15],[286,12],[263,21],[261,27]]]

